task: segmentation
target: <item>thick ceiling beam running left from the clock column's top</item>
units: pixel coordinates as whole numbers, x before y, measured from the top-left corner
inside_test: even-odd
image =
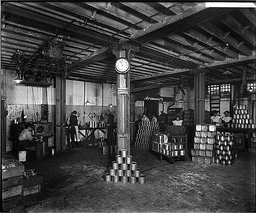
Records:
[[[104,47],[104,48],[101,48],[101,49],[95,51],[92,54],[92,56],[85,57],[84,59],[75,61],[75,63],[69,65],[67,69],[68,69],[68,72],[70,72],[74,69],[78,69],[79,67],[82,67],[82,66],[85,66],[88,64],[93,64],[94,62],[108,59],[109,57],[112,57],[112,56],[113,56],[113,54],[109,50],[109,47]]]

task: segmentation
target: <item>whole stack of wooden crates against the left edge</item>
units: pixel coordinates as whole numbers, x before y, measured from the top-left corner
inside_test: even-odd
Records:
[[[2,207],[3,211],[24,211],[24,165],[15,159],[2,159]]]

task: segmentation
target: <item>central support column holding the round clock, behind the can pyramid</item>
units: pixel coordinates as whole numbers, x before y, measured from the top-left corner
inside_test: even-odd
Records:
[[[119,57],[130,60],[130,51],[119,51]],[[117,74],[117,147],[127,149],[130,154],[130,71],[125,74]]]

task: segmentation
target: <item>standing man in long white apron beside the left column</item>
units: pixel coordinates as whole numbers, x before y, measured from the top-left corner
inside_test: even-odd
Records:
[[[69,142],[71,142],[72,149],[75,149],[76,145],[78,148],[81,148],[81,140],[80,140],[79,128],[78,128],[78,126],[81,123],[81,120],[79,121],[76,114],[77,114],[77,111],[74,110],[66,122],[69,127]]]

